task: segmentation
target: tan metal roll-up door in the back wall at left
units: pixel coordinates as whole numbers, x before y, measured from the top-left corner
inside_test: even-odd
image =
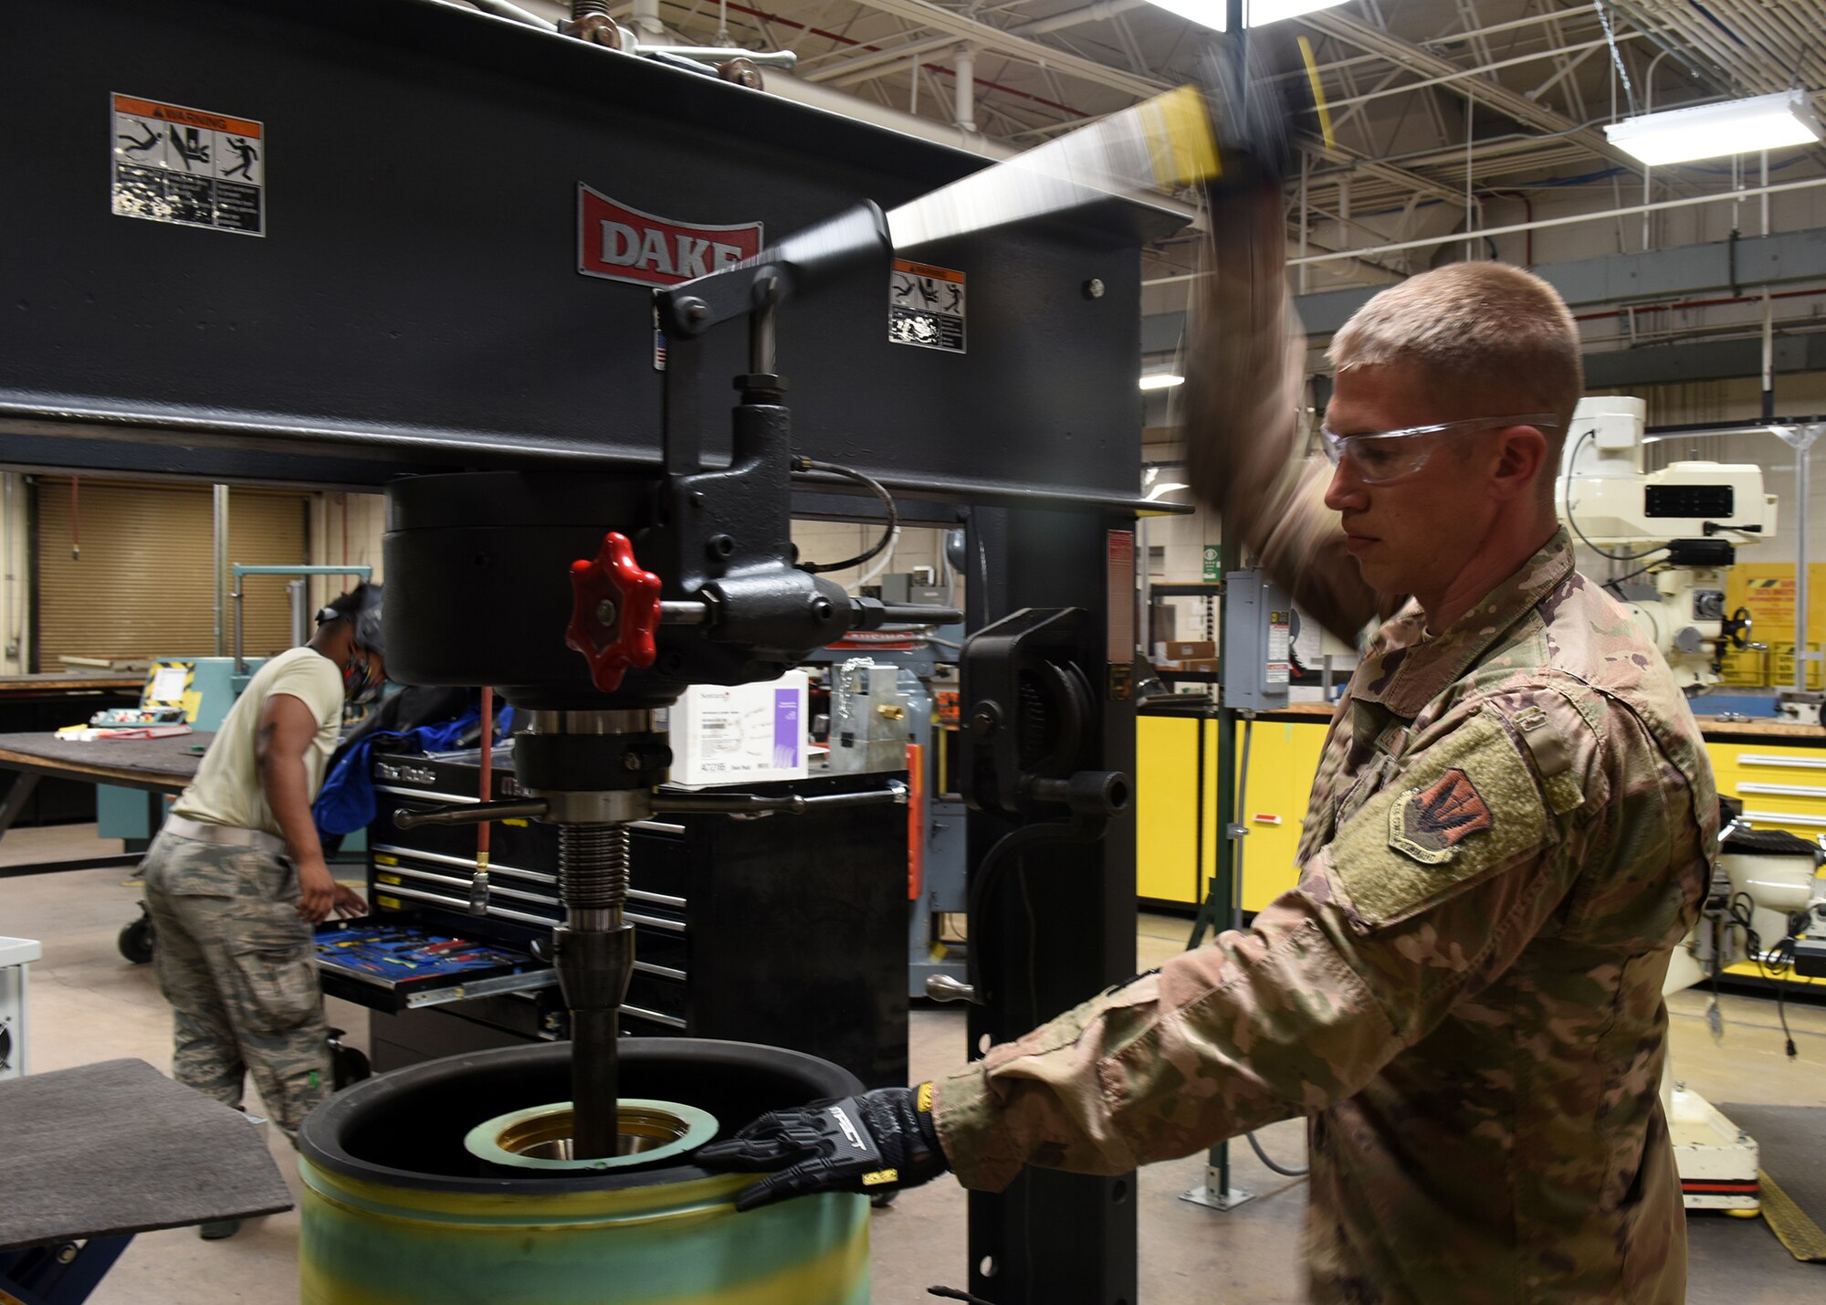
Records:
[[[228,493],[228,561],[309,561],[309,499],[283,490]],[[37,481],[33,532],[37,667],[62,656],[152,660],[215,652],[215,521],[206,484]],[[230,581],[232,589],[232,581]],[[290,647],[283,576],[245,581],[247,654]],[[223,620],[234,652],[234,609]]]

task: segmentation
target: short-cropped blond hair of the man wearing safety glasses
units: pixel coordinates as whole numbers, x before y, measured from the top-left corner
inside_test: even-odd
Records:
[[[1326,351],[1338,371],[1410,366],[1452,406],[1554,413],[1558,453],[1585,393],[1579,327],[1552,285],[1508,263],[1448,263],[1388,287]],[[1558,464],[1558,459],[1556,459]]]

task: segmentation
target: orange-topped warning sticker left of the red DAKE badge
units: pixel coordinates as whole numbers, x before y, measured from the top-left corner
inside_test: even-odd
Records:
[[[226,113],[113,95],[113,210],[267,234],[267,128]]]

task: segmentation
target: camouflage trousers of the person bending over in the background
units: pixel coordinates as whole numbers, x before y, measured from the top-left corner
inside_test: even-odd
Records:
[[[268,1117],[296,1139],[332,1086],[298,874],[267,852],[164,832],[146,852],[146,907],[177,1016],[172,1077],[239,1108],[252,1073]]]

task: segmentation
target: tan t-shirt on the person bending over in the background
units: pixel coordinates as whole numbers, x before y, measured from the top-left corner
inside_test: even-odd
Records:
[[[316,801],[341,733],[341,671],[321,652],[290,649],[267,662],[228,709],[197,777],[172,806],[175,815],[285,837],[267,806],[267,791],[259,786],[259,715],[267,698],[276,693],[298,698],[318,718],[318,737],[305,749],[305,780]]]

